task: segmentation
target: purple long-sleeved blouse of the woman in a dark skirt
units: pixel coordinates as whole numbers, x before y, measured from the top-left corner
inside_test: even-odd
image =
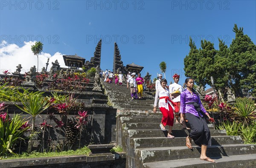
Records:
[[[190,102],[197,102],[202,112],[204,112],[206,115],[208,114],[199,98],[199,95],[195,93],[191,94],[188,90],[184,90],[180,94],[180,113],[191,113],[199,117],[198,111],[195,109],[194,105],[186,104]],[[203,116],[202,114],[200,115]]]

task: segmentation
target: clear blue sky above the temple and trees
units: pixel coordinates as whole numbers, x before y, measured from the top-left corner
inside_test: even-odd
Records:
[[[103,70],[113,69],[116,41],[124,65],[141,65],[142,76],[149,72],[154,78],[160,73],[160,62],[165,61],[168,83],[175,72],[183,83],[189,36],[198,48],[202,38],[213,42],[215,49],[218,38],[229,46],[236,23],[256,43],[255,0],[1,0],[0,5],[1,72],[13,70],[16,64],[37,64],[32,52],[26,50],[29,47],[24,47],[29,44],[23,41],[43,41],[42,61],[56,53],[90,60],[102,38]],[[10,56],[14,51],[20,59]],[[11,63],[15,66],[6,68]],[[44,62],[39,68],[42,66]]]

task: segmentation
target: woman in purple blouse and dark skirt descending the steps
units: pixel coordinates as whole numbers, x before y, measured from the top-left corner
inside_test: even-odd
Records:
[[[184,114],[191,126],[191,132],[186,137],[186,146],[192,149],[191,139],[196,145],[201,147],[201,160],[208,162],[215,162],[206,156],[207,146],[212,145],[210,130],[204,119],[203,113],[209,118],[210,122],[214,122],[199,98],[198,93],[193,89],[194,79],[186,78],[185,80],[186,90],[180,94],[180,122],[184,120]]]

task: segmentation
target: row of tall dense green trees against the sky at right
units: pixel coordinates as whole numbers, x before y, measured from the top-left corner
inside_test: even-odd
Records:
[[[244,89],[256,96],[256,45],[236,24],[233,32],[236,38],[230,47],[219,39],[218,51],[206,40],[197,49],[190,38],[189,55],[184,58],[185,75],[194,78],[200,86],[211,85],[210,76],[213,76],[218,89],[232,88],[236,96],[241,96]]]

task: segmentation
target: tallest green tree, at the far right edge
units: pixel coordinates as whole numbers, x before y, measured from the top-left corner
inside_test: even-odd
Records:
[[[235,24],[233,32],[236,38],[230,44],[229,84],[236,93],[242,96],[241,90],[246,90],[256,96],[256,46],[244,35],[243,28]]]

